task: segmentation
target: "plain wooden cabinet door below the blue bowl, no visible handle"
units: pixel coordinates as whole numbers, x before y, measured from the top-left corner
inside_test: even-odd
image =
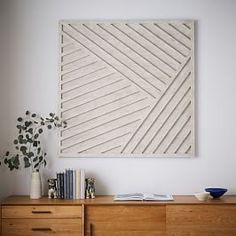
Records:
[[[167,235],[235,236],[235,205],[166,206]]]

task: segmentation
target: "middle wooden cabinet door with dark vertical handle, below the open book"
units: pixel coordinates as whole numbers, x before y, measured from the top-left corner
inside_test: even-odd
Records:
[[[86,236],[165,235],[165,206],[86,206]]]

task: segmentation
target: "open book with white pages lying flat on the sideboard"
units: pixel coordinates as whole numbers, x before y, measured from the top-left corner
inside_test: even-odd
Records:
[[[128,193],[117,194],[114,197],[115,201],[173,201],[174,198],[170,194],[156,193]]]

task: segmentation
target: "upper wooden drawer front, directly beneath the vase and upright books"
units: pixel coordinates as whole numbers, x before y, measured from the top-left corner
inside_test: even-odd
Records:
[[[2,218],[81,218],[81,206],[3,206]]]

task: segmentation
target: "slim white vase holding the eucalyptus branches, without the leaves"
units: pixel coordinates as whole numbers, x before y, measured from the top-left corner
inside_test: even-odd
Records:
[[[42,197],[42,182],[40,173],[34,171],[31,174],[30,199],[39,199]]]

